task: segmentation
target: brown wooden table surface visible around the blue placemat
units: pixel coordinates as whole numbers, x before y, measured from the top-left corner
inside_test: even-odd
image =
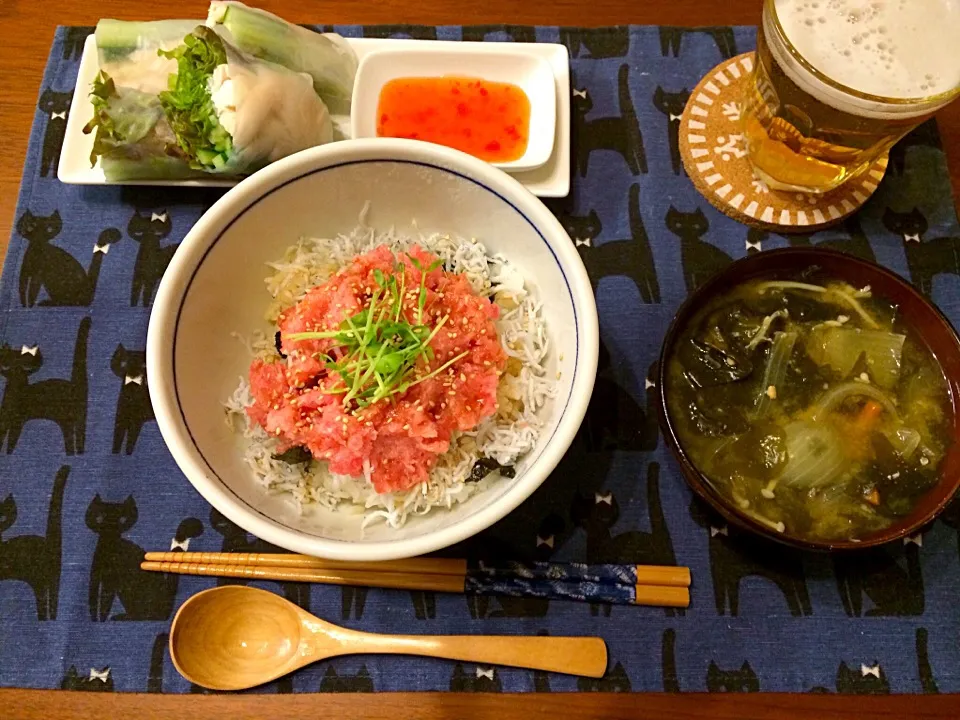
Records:
[[[530,25],[749,25],[760,16],[760,0],[248,0],[293,22],[421,23],[458,25],[506,22]],[[27,137],[34,119],[40,79],[57,25],[94,25],[100,17],[146,20],[202,17],[203,0],[0,0],[0,251],[5,252],[13,222]],[[940,116],[954,196],[960,199],[960,102]],[[453,693],[382,695],[291,695],[285,697],[157,696],[62,691],[0,690],[4,718],[281,718],[314,716],[439,720],[498,718],[520,720],[534,715],[605,719],[672,720],[793,717],[951,718],[960,717],[957,696],[851,697],[829,695],[723,694],[469,695]]]

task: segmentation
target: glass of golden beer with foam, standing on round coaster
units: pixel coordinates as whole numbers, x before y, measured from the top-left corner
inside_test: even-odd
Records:
[[[772,188],[825,193],[960,95],[960,0],[765,0],[741,113]]]

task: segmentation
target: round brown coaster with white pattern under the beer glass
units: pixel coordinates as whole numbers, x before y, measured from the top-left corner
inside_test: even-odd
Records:
[[[861,177],[823,195],[773,190],[747,160],[740,109],[754,53],[725,60],[697,85],[680,118],[680,157],[694,186],[720,212],[774,232],[811,232],[834,225],[877,189],[887,156]]]

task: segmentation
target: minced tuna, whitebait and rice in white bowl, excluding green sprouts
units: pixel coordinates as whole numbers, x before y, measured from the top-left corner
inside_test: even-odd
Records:
[[[431,270],[420,273],[428,318],[421,327],[430,333],[430,352],[446,348],[438,350],[432,365],[433,372],[441,372],[433,377],[427,372],[415,385],[369,407],[362,398],[352,399],[359,406],[344,406],[340,399],[348,393],[336,394],[346,389],[343,378],[298,350],[298,342],[310,341],[298,341],[289,326],[297,322],[305,298],[316,299],[325,288],[339,292],[348,282],[344,273],[361,290],[356,300],[363,305],[371,293],[357,285],[378,289],[373,273],[386,285],[383,273],[389,276],[401,266],[406,271],[401,279],[410,285],[417,282],[418,269]],[[556,395],[558,380],[544,367],[551,348],[538,292],[481,241],[444,233],[377,232],[361,218],[349,234],[301,238],[269,263],[265,286],[266,319],[271,326],[286,323],[286,337],[281,339],[280,330],[275,336],[238,333],[252,364],[225,402],[227,422],[243,434],[244,459],[258,480],[270,492],[288,495],[298,511],[337,508],[363,513],[364,527],[385,522],[399,528],[411,514],[450,508],[513,477],[518,459],[536,445],[543,426],[537,411]],[[392,294],[378,290],[377,307],[388,295],[397,301],[398,317],[404,300],[405,315],[416,316],[416,290],[405,298],[397,287]],[[451,302],[459,304],[436,309]],[[328,309],[331,321],[319,323],[327,330],[348,315],[339,302]],[[306,327],[300,320],[296,329]],[[318,391],[318,383],[326,383],[328,392]],[[384,418],[384,412],[391,417]]]

